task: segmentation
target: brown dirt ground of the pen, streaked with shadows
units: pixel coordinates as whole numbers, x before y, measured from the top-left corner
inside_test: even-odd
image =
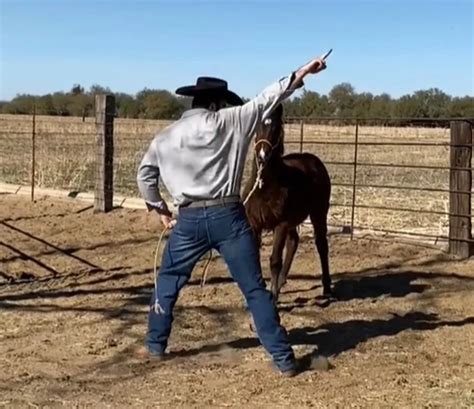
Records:
[[[327,356],[331,369],[285,379],[220,260],[203,288],[201,263],[182,292],[172,358],[133,357],[146,329],[155,215],[0,195],[0,220],[0,407],[474,407],[473,259],[334,235],[338,300],[327,304],[306,235],[280,313],[297,356]]]

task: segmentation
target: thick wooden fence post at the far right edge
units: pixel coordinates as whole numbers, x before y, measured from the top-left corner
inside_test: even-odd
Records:
[[[449,178],[449,252],[469,257],[472,242],[472,126],[468,121],[451,122]]]

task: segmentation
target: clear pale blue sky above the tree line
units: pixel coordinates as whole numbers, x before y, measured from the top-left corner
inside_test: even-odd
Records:
[[[252,97],[329,48],[308,79],[394,97],[473,95],[473,0],[0,0],[0,99],[74,83],[174,91],[199,75]]]

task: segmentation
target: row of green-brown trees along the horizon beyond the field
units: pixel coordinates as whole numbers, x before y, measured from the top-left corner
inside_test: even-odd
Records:
[[[175,119],[190,107],[190,98],[162,89],[145,88],[136,95],[112,92],[93,85],[85,90],[74,85],[68,92],[42,96],[20,94],[0,102],[0,112],[40,115],[93,116],[96,94],[114,94],[120,118]],[[287,117],[331,118],[474,118],[474,97],[452,97],[438,88],[419,90],[400,98],[383,93],[358,93],[349,83],[334,86],[327,95],[303,91],[285,102]]]

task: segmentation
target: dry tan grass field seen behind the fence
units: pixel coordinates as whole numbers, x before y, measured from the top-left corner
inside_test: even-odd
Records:
[[[0,180],[29,183],[31,166],[31,117],[0,116]],[[143,151],[154,134],[170,122],[117,119],[115,121],[115,190],[120,194],[138,195],[135,174]],[[37,184],[69,190],[92,190],[94,186],[95,124],[93,118],[38,117],[36,123]],[[300,125],[286,126],[287,152],[299,151]],[[353,126],[306,125],[304,140],[354,141]],[[448,129],[360,127],[360,142],[448,143]],[[303,149],[317,154],[323,161],[353,162],[353,145],[305,144]],[[398,163],[448,166],[447,146],[359,146],[361,163]],[[333,183],[352,183],[353,165],[328,164]],[[249,166],[246,170],[248,177]],[[449,171],[409,168],[358,166],[357,182],[363,184],[449,188]],[[358,188],[358,204],[401,207],[444,212],[448,194],[376,188]],[[350,224],[352,188],[334,186],[332,224]],[[447,234],[447,217],[376,209],[357,209],[355,224],[376,229],[403,230],[429,234]]]

